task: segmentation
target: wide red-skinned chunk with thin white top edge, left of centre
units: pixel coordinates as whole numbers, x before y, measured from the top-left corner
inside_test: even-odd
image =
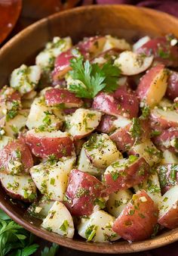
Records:
[[[26,144],[32,154],[40,158],[48,158],[54,155],[56,158],[71,156],[73,151],[73,141],[68,133],[60,131],[37,132],[29,130],[26,133]]]

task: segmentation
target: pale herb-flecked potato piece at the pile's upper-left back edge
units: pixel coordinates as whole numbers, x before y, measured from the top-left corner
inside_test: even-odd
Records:
[[[48,42],[42,52],[35,59],[35,64],[41,67],[42,70],[51,70],[54,66],[54,60],[62,52],[65,52],[72,47],[72,39],[67,36],[61,39],[55,36],[52,42]]]

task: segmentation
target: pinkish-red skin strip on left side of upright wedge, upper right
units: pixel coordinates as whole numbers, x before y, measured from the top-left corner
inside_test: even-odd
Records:
[[[146,95],[149,92],[149,87],[151,86],[152,81],[155,80],[155,76],[157,76],[158,73],[160,73],[163,69],[164,65],[158,64],[155,67],[147,70],[146,74],[142,76],[136,90],[137,96],[140,98],[141,101],[146,98]]]

